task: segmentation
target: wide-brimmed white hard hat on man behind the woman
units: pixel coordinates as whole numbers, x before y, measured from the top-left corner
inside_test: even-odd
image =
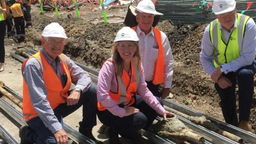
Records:
[[[135,6],[133,6],[135,7]],[[160,12],[156,12],[156,8],[154,3],[151,0],[142,0],[138,3],[137,7],[135,7],[139,12],[145,12],[148,14],[155,14],[155,15],[164,15]]]

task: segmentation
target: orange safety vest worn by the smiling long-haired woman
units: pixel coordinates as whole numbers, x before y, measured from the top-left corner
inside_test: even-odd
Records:
[[[112,59],[107,59],[115,63]],[[116,75],[116,81],[118,85],[118,92],[114,93],[109,91],[109,96],[117,104],[123,104],[130,106],[135,102],[134,96],[137,93],[140,83],[140,70],[137,68],[137,59],[133,57],[130,61],[131,64],[131,77],[128,76],[125,69],[123,68],[122,76]],[[106,108],[98,102],[97,107],[99,111],[104,111]]]

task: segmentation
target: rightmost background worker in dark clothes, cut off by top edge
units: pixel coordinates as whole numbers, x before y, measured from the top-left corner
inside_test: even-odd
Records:
[[[31,20],[31,0],[22,0],[22,5],[25,7],[26,11],[24,12],[24,19],[26,21],[26,28],[28,28],[28,26],[33,26],[32,24],[32,20]]]

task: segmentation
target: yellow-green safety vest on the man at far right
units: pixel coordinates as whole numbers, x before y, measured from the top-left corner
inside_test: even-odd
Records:
[[[214,66],[218,67],[240,57],[244,40],[244,29],[250,17],[237,14],[237,27],[234,27],[228,44],[221,38],[220,22],[215,19],[210,24],[210,37],[214,47]]]

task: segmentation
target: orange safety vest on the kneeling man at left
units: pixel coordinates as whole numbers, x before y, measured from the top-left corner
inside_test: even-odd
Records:
[[[43,71],[43,80],[47,90],[47,100],[50,103],[51,108],[55,109],[57,106],[59,106],[59,104],[66,102],[66,98],[68,97],[68,91],[71,86],[71,76],[69,73],[66,58],[63,54],[59,55],[59,59],[62,62],[62,68],[64,69],[64,73],[66,73],[67,75],[66,85],[65,87],[63,87],[61,80],[58,78],[57,74],[52,69],[52,66],[49,64],[47,59],[45,59],[42,52],[38,52],[31,57],[35,57],[41,65]],[[26,61],[24,61],[24,63],[22,64],[22,73],[27,61],[28,59],[26,59]],[[23,78],[23,117],[25,121],[28,121],[36,116],[38,116],[38,114],[36,113],[33,105],[31,104],[28,86]]]

